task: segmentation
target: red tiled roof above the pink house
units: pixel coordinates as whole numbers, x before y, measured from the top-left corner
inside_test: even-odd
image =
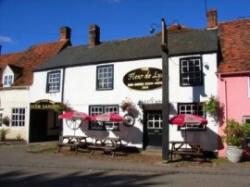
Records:
[[[250,71],[250,19],[219,24],[222,62],[219,73]]]

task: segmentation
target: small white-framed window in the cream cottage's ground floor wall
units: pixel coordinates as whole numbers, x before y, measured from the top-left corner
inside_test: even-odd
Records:
[[[11,125],[22,127],[25,124],[25,108],[12,108]]]

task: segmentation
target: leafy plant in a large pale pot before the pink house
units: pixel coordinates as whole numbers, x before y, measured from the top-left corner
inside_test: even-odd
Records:
[[[234,120],[229,120],[224,130],[227,143],[226,156],[229,161],[237,163],[241,160],[245,141],[245,129]]]

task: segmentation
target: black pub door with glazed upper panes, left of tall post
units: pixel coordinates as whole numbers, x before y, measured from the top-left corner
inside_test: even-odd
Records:
[[[145,133],[147,146],[161,147],[162,146],[162,113],[161,111],[146,112]]]

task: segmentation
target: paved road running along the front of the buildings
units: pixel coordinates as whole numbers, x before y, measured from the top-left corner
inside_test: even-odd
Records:
[[[0,146],[2,186],[250,186],[250,169],[174,168],[78,156],[32,154],[25,146]]]

